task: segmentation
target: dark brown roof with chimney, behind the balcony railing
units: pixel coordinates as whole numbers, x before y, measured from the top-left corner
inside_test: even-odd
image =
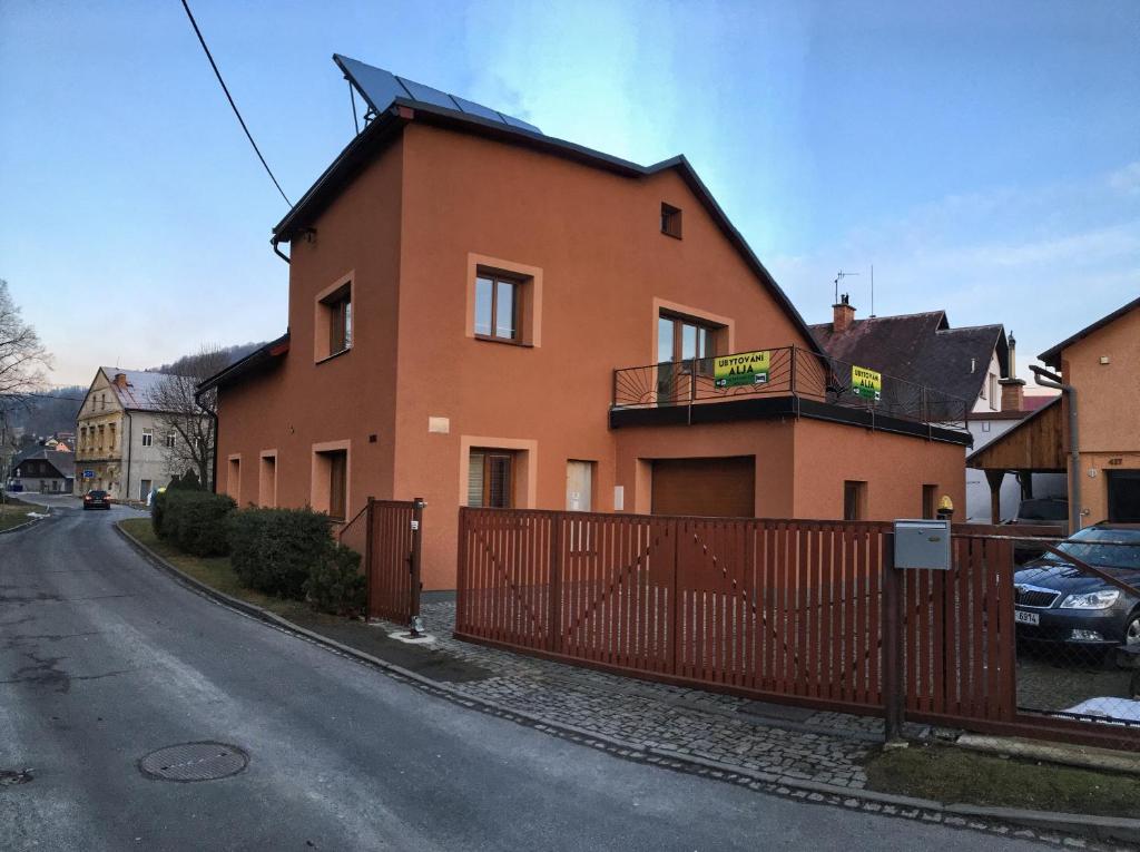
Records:
[[[995,351],[1002,373],[1009,370],[1003,326],[951,328],[944,310],[855,319],[841,333],[831,323],[821,323],[812,326],[812,333],[832,358],[959,399],[977,399]]]

